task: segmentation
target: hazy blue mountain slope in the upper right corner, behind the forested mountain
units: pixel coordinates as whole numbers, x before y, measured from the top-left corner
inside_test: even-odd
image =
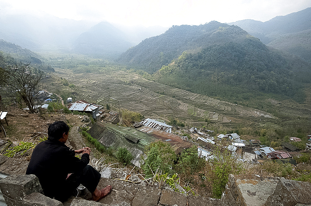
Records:
[[[266,22],[241,20],[230,23],[233,24],[269,46],[311,61],[308,58],[311,52],[304,48],[310,48],[311,7],[285,16],[277,16]],[[302,42],[305,42],[306,46],[302,46]]]

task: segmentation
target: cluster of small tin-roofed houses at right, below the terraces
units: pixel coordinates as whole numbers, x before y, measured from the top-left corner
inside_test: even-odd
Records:
[[[281,160],[282,162],[295,163],[293,157],[299,156],[301,152],[311,150],[311,135],[309,135],[309,142],[306,144],[306,150],[300,151],[300,149],[288,142],[281,143],[281,150],[275,150],[272,147],[266,145],[260,145],[259,140],[243,140],[236,133],[233,134],[220,134],[216,138],[212,137],[206,132],[202,132],[197,128],[191,128],[190,130],[193,138],[196,138],[199,147],[199,152],[204,154],[207,159],[211,158],[212,149],[214,144],[221,142],[225,139],[229,142],[227,149],[238,155],[241,160],[260,162],[267,159]],[[210,132],[210,130],[208,130]],[[300,138],[290,137],[291,142],[299,142]]]

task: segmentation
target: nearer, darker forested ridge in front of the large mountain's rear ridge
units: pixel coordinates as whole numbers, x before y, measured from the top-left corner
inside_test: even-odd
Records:
[[[223,42],[191,54],[184,52],[163,66],[157,81],[196,93],[243,100],[243,95],[272,93],[304,100],[304,83],[311,72],[303,61],[291,61],[267,49],[257,38]]]

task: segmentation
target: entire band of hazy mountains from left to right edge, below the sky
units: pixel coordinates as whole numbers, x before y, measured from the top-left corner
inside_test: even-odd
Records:
[[[22,47],[116,58],[152,74],[152,80],[214,97],[263,92],[304,101],[311,83],[311,8],[267,22],[212,21],[165,33],[160,27],[92,25],[47,15],[0,20],[0,38]]]

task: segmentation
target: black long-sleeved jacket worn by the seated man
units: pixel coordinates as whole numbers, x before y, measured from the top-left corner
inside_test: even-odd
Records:
[[[89,154],[79,159],[64,143],[45,140],[32,152],[26,174],[37,176],[44,195],[53,198],[62,191],[68,173],[81,172],[89,162]]]

